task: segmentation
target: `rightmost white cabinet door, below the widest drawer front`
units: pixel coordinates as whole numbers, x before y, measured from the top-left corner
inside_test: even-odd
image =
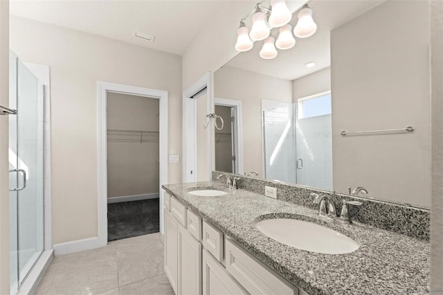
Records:
[[[248,294],[226,269],[206,250],[203,251],[203,294]]]

